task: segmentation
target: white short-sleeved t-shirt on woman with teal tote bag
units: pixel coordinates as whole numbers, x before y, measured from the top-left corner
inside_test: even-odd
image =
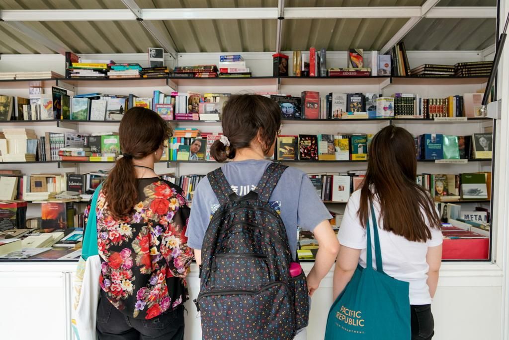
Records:
[[[366,229],[362,227],[357,217],[359,204],[360,190],[357,190],[348,201],[337,238],[340,240],[341,245],[353,249],[361,249],[359,264],[365,268],[367,248]],[[427,242],[409,241],[403,236],[383,230],[383,221],[380,221],[380,204],[375,199],[373,205],[378,223],[378,234],[380,236],[383,271],[387,275],[394,277],[394,279],[406,281],[410,284],[410,304],[430,304],[432,298],[430,296],[428,284],[426,283],[429,270],[428,263],[426,262],[426,254],[428,253],[428,247],[442,244],[442,232],[437,229],[430,229],[432,238]],[[373,233],[371,238],[373,267],[376,268]]]

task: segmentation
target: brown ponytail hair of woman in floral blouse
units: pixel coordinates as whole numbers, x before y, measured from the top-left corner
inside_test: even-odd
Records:
[[[119,158],[103,184],[111,214],[118,219],[129,215],[137,203],[136,172],[133,159],[143,159],[155,152],[172,135],[172,128],[157,113],[142,107],[133,107],[120,121]]]

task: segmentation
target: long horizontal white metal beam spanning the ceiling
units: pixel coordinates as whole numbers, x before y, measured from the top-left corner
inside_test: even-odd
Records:
[[[5,21],[129,21],[277,19],[279,8],[146,8],[122,0],[129,9],[106,10],[3,10]],[[351,18],[496,18],[496,7],[437,7],[429,0],[422,7],[288,7],[286,19]],[[132,10],[131,10],[132,9]]]

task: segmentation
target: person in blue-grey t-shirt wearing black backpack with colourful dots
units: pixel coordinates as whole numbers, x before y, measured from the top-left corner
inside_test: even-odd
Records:
[[[222,111],[218,162],[194,191],[187,237],[202,264],[204,339],[305,338],[308,295],[331,268],[338,242],[331,215],[307,175],[267,160],[281,111],[271,99],[235,95]],[[297,261],[297,226],[320,244],[306,279]]]

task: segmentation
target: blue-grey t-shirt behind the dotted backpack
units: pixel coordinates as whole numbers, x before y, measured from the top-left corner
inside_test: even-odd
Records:
[[[231,162],[223,165],[222,171],[233,191],[244,196],[256,189],[270,163],[271,161],[265,160]],[[296,168],[288,168],[281,175],[269,203],[280,212],[294,258],[297,252],[297,226],[313,231],[318,224],[332,218],[307,175]],[[205,231],[218,208],[219,201],[205,177],[194,190],[186,232],[188,246],[202,249]]]

